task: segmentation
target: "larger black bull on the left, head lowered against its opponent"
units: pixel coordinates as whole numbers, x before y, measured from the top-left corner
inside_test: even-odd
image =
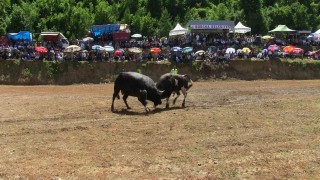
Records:
[[[156,88],[155,82],[148,76],[136,72],[121,72],[114,82],[114,93],[112,97],[111,111],[114,111],[114,100],[120,99],[119,92],[123,94],[123,101],[127,109],[131,109],[127,103],[128,96],[137,97],[143,104],[146,112],[147,100],[154,103],[154,107],[161,104],[162,92]]]

